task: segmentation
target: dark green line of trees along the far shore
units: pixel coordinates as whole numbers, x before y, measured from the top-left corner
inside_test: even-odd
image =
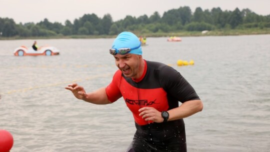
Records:
[[[0,17],[1,37],[35,37],[66,35],[115,35],[121,31],[137,33],[157,33],[175,31],[202,31],[216,29],[270,28],[270,14],[258,15],[248,8],[241,11],[221,10],[220,7],[202,10],[197,7],[194,12],[188,6],[165,11],[162,16],[155,11],[149,17],[126,15],[124,19],[112,21],[110,14],[99,18],[96,14],[84,14],[73,22],[65,20],[50,22],[47,18],[33,23],[16,24],[12,18]]]

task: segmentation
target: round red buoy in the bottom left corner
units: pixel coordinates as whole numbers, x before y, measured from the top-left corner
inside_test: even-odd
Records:
[[[12,134],[0,129],[0,152],[8,152],[13,145]]]

